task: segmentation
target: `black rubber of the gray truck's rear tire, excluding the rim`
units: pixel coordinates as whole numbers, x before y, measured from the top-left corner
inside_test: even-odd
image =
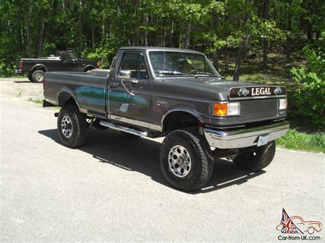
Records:
[[[71,138],[66,138],[61,131],[61,120],[64,115],[70,116],[73,123],[73,134]],[[64,106],[58,115],[58,135],[61,142],[69,148],[76,148],[86,142],[87,137],[86,115],[79,112],[76,105]]]

